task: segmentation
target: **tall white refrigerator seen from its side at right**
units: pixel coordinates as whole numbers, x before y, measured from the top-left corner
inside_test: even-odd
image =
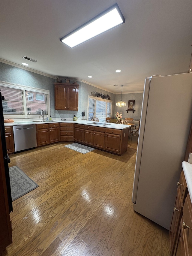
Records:
[[[134,210],[170,230],[192,120],[192,73],[146,77]]]

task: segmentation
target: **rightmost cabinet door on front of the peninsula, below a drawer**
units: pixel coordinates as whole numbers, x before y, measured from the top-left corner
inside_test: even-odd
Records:
[[[105,134],[104,149],[111,152],[120,153],[121,136],[116,134]]]

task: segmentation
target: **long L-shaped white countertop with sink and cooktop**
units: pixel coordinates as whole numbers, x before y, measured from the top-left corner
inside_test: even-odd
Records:
[[[54,120],[54,118],[53,118]],[[104,123],[108,125],[96,125],[94,124],[93,121],[87,121],[87,120],[77,120],[77,121],[61,121],[61,120],[55,120],[52,122],[33,122],[33,121],[15,121],[13,123],[4,123],[4,126],[13,126],[13,125],[31,125],[31,124],[46,124],[46,123],[76,123],[76,124],[81,124],[81,125],[91,125],[91,126],[99,126],[99,127],[104,127],[104,128],[112,128],[112,129],[128,129],[131,127],[131,125],[120,125],[120,124],[114,124],[114,123]],[[99,122],[103,123],[103,122]]]

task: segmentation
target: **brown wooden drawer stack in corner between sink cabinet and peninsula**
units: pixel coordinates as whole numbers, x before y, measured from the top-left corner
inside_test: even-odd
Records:
[[[60,140],[73,141],[74,128],[73,123],[60,123]]]

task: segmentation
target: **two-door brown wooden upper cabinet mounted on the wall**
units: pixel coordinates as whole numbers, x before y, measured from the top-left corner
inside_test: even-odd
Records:
[[[55,84],[55,110],[78,111],[79,85],[54,83]]]

